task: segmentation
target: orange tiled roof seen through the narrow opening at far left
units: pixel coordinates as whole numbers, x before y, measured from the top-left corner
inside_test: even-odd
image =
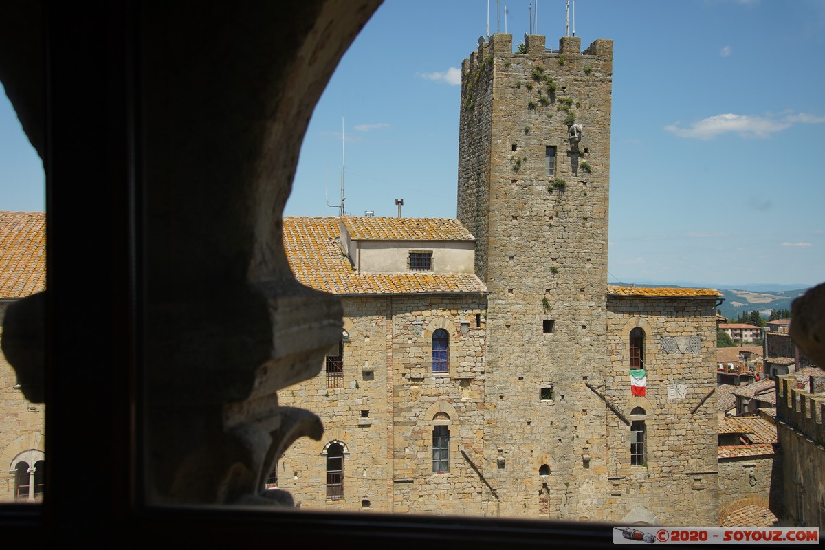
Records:
[[[0,299],[46,288],[46,214],[0,212]]]

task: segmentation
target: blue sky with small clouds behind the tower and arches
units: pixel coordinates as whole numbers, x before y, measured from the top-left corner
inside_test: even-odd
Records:
[[[535,0],[534,0],[535,2]],[[530,0],[490,2],[518,44]],[[572,2],[571,2],[572,3]],[[285,214],[455,217],[460,66],[487,0],[385,0],[332,77]],[[538,34],[564,35],[564,0]],[[615,41],[610,278],[825,280],[825,0],[578,0],[582,47]],[[571,31],[573,17],[571,15]],[[40,162],[0,100],[0,209],[42,209]]]

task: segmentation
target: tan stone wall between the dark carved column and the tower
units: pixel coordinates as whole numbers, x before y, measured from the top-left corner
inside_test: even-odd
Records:
[[[345,296],[343,388],[326,376],[287,388],[286,405],[321,417],[321,441],[299,440],[278,485],[315,509],[491,514],[488,488],[464,458],[483,458],[486,308],[483,295]],[[480,324],[479,324],[480,321]],[[432,333],[450,334],[450,367],[434,374]],[[450,430],[449,472],[432,472],[434,419]],[[443,419],[447,420],[443,420]],[[344,498],[326,499],[323,448],[341,441]],[[461,453],[464,451],[464,454]]]

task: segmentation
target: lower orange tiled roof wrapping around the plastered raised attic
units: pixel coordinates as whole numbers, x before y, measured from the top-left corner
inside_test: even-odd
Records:
[[[295,279],[332,294],[487,292],[471,273],[356,273],[341,250],[339,232],[338,218],[284,218],[284,247]]]

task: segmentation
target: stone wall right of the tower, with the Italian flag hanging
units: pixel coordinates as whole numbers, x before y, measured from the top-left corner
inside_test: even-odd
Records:
[[[715,300],[610,296],[604,395],[627,422],[605,407],[610,497],[604,519],[648,510],[666,525],[717,521],[718,466]],[[630,390],[629,333],[645,333],[645,397]],[[630,413],[644,419],[646,466],[630,464]]]

